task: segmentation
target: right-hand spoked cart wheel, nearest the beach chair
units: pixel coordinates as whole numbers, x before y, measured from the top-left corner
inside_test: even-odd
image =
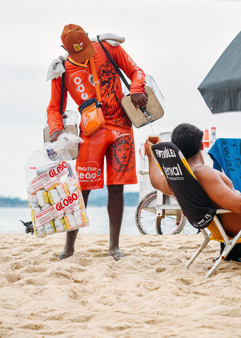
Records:
[[[177,205],[178,202],[174,196],[163,194],[163,204]],[[162,210],[162,216],[156,218],[156,232],[159,235],[180,234],[186,224],[186,220],[181,209]]]

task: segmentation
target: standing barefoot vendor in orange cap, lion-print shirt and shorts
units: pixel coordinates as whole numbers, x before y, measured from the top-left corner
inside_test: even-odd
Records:
[[[107,34],[108,35],[108,34]],[[63,112],[67,104],[67,92],[78,107],[90,98],[96,98],[91,62],[97,72],[105,124],[90,136],[85,136],[80,124],[80,145],[76,170],[82,194],[87,206],[92,189],[103,188],[104,156],[107,163],[107,210],[110,222],[109,256],[119,260],[124,257],[119,249],[119,235],[124,209],[123,188],[125,184],[136,184],[135,149],[132,123],[121,105],[122,87],[120,77],[110,63],[99,42],[91,42],[86,32],[77,25],[64,26],[61,40],[67,51],[64,63]],[[102,41],[109,55],[131,80],[131,102],[138,109],[147,104],[145,94],[145,74],[118,44],[112,45],[110,39]],[[93,57],[93,59],[91,59]],[[51,100],[47,108],[50,140],[54,142],[62,133],[63,122],[60,114],[61,76],[51,81]],[[100,215],[101,216],[101,215]],[[101,217],[99,220],[101,224]],[[74,252],[78,230],[67,232],[64,250],[59,259],[65,259]]]

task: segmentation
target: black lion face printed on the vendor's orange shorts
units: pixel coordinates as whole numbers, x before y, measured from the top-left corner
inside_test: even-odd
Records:
[[[108,161],[116,172],[126,172],[134,169],[134,142],[130,135],[123,135],[112,143],[108,151]]]

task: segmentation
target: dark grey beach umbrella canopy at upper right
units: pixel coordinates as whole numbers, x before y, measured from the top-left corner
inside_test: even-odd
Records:
[[[212,114],[241,111],[241,32],[198,87]]]

